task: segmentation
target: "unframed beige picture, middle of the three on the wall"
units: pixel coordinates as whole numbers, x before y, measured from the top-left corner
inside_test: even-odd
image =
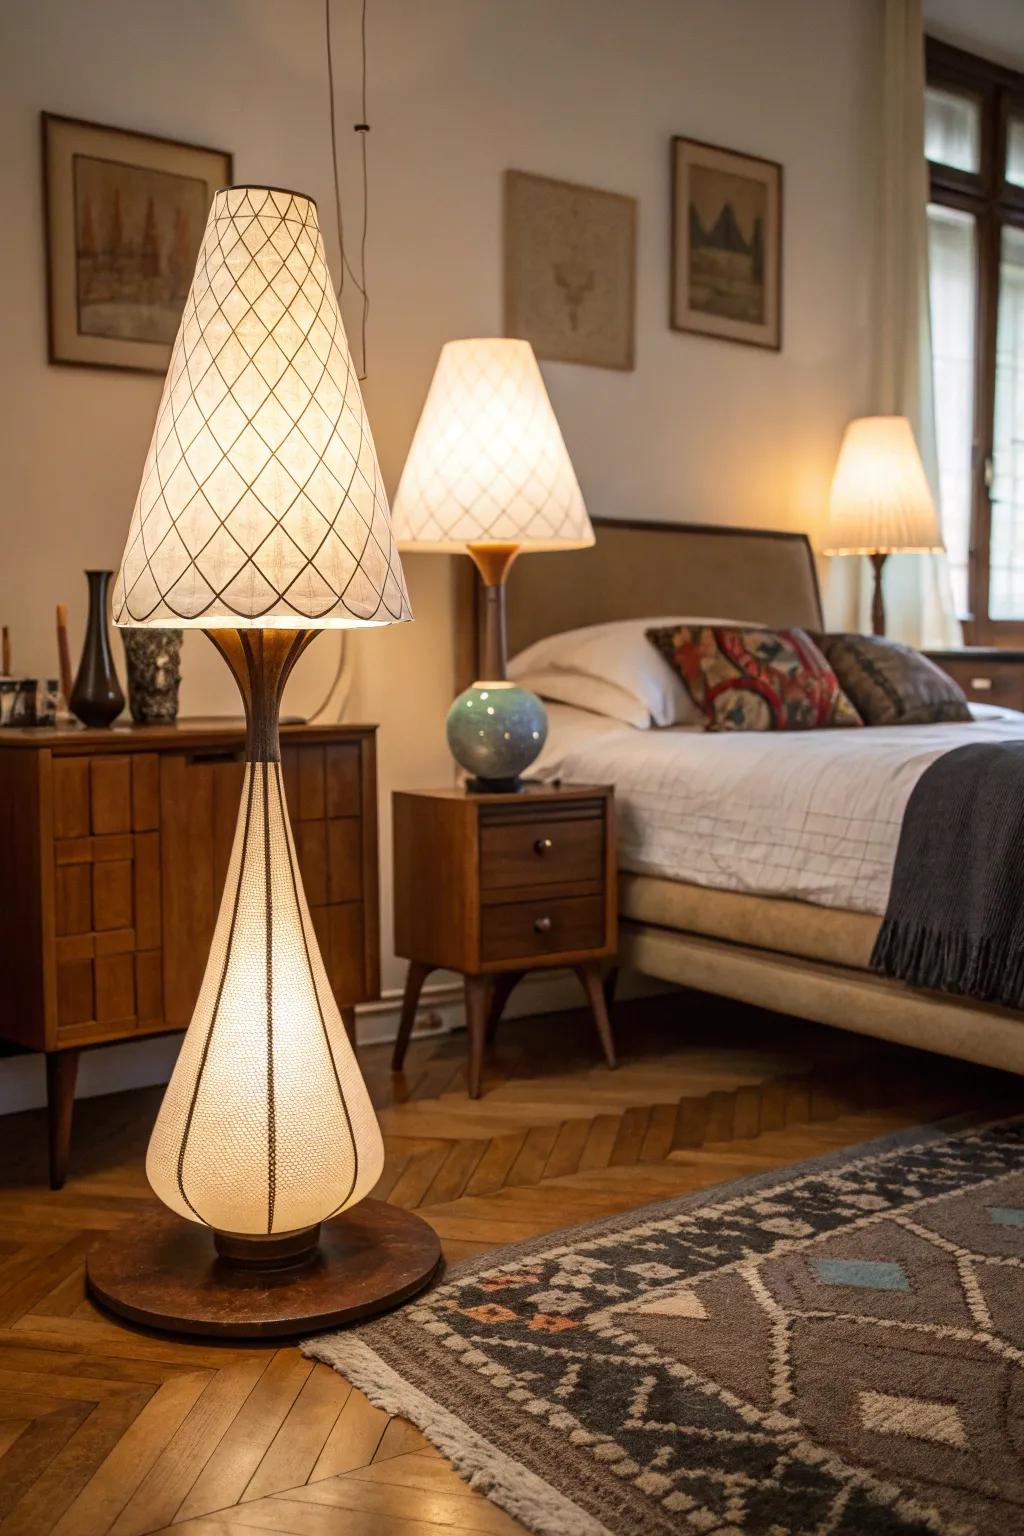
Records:
[[[637,204],[505,172],[505,335],[539,358],[634,367]]]

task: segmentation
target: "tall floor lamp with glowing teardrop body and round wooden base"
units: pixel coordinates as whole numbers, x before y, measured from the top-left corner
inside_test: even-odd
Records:
[[[295,856],[278,710],[318,630],[410,619],[316,204],[215,195],[114,590],[121,627],[206,630],[246,773],[206,974],[146,1158],[169,1213],[89,1255],[135,1321],[295,1333],[411,1295],[434,1235],[367,1201],[381,1130]]]

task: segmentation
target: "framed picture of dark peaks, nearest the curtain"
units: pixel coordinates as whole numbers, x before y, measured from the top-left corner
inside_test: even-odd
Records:
[[[672,140],[672,330],[781,347],[783,167]]]

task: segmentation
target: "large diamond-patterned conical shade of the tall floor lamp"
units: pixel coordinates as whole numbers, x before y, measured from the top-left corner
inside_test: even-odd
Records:
[[[411,617],[316,204],[210,207],[114,587],[120,625]]]

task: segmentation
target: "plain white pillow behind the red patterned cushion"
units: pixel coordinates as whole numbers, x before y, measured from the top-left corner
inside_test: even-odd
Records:
[[[651,645],[646,631],[669,624],[752,624],[742,619],[617,619],[613,624],[590,624],[583,630],[550,634],[508,664],[511,682],[522,682],[545,699],[579,703],[583,710],[609,714],[645,730],[648,725],[694,725],[703,716],[686,693],[683,682]],[[527,677],[534,679],[525,682]],[[543,679],[543,684],[540,684]],[[571,679],[571,680],[570,680]],[[580,680],[597,682],[616,690],[613,694],[590,693],[594,700],[582,702]],[[553,690],[559,690],[557,693]],[[567,696],[567,688],[576,697]],[[545,691],[547,690],[547,691]],[[623,700],[629,700],[626,703]],[[623,713],[625,711],[625,713]]]

